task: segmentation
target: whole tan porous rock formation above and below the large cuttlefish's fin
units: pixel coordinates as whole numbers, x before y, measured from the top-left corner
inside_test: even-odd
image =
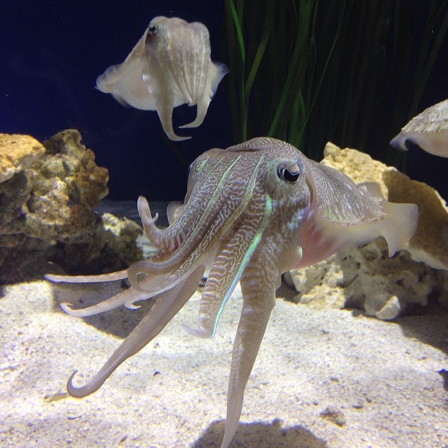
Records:
[[[384,239],[362,248],[342,248],[327,260],[287,277],[297,302],[316,307],[356,307],[381,319],[402,314],[410,304],[426,305],[428,295],[448,307],[448,213],[440,195],[393,167],[354,149],[327,144],[323,165],[334,167],[356,183],[377,182],[391,202],[419,206],[419,227],[407,251],[388,257]]]

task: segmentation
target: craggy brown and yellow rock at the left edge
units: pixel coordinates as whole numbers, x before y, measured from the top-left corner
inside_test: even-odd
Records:
[[[109,193],[108,181],[76,130],[43,144],[0,134],[0,282],[38,278],[48,261],[69,273],[94,273],[137,260],[139,226],[123,221],[113,232],[111,218],[104,227],[93,211]]]

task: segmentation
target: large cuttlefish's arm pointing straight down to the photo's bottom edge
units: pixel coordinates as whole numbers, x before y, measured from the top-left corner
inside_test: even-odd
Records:
[[[281,277],[276,267],[270,266],[267,258],[262,261],[261,265],[260,259],[251,261],[241,276],[243,307],[233,345],[227,416],[221,448],[230,445],[237,430],[243,407],[244,388],[274,308],[276,288],[280,286]]]

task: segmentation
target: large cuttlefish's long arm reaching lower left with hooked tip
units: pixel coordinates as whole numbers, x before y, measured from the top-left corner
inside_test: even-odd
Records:
[[[137,353],[148,344],[179,312],[188,299],[195,293],[197,283],[202,279],[204,266],[199,266],[188,279],[174,286],[172,290],[163,293],[155,302],[151,311],[141,320],[137,327],[122,342],[106,364],[97,374],[82,387],[73,386],[73,372],[67,382],[67,391],[76,398],[82,398],[97,391],[110,374],[123,363],[124,360]]]

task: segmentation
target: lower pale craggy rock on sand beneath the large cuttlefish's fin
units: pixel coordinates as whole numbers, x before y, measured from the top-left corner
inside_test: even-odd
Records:
[[[415,262],[407,251],[388,257],[386,241],[378,238],[362,248],[342,248],[314,266],[290,271],[296,302],[314,307],[356,307],[369,316],[390,320],[411,304],[426,305],[441,289],[435,269]]]

